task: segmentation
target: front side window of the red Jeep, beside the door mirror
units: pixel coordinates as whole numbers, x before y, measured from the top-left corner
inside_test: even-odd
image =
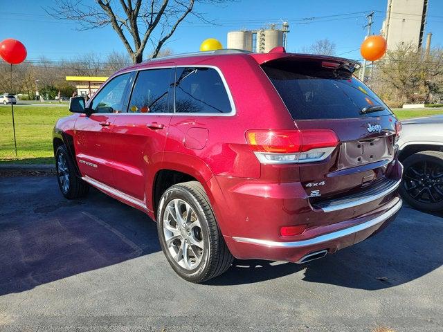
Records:
[[[103,89],[94,96],[89,105],[94,113],[119,113],[123,111],[125,90],[130,77],[131,74],[126,73],[110,80]]]

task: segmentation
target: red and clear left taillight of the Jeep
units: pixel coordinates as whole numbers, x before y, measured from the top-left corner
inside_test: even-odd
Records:
[[[248,130],[246,141],[260,163],[310,163],[327,158],[338,145],[329,129]]]

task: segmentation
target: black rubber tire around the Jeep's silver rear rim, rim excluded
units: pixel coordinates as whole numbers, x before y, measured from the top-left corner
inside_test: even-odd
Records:
[[[177,261],[174,260],[166,245],[163,231],[163,216],[168,203],[174,199],[188,203],[197,215],[201,225],[201,237],[203,238],[204,249],[202,250],[201,261],[192,269],[186,269],[180,266]],[[217,222],[215,221],[214,212],[208,196],[204,188],[197,181],[172,185],[172,187],[163,193],[159,203],[159,209],[157,210],[157,230],[159,232],[161,248],[170,266],[172,266],[180,277],[188,280],[188,282],[194,282],[196,284],[206,282],[224,273],[233,262],[233,256],[230,254],[217,226]],[[183,239],[179,241],[183,241]]]

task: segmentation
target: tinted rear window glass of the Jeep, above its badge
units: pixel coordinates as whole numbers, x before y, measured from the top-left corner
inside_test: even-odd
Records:
[[[262,66],[293,119],[341,119],[392,114],[368,86],[349,71],[323,68],[318,61],[275,61]],[[361,109],[386,109],[361,113]]]

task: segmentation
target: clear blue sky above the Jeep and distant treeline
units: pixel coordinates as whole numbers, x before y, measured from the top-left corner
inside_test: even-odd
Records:
[[[118,1],[117,1],[118,2]],[[197,8],[215,25],[201,24],[190,19],[183,22],[167,44],[174,53],[192,52],[209,37],[226,46],[226,33],[239,28],[260,28],[264,24],[289,21],[287,50],[300,51],[316,39],[328,38],[336,44],[337,55],[361,59],[359,46],[366,31],[365,13],[374,15],[372,31],[379,33],[387,0],[237,0],[222,5],[200,4]],[[28,49],[28,59],[44,55],[48,59],[71,59],[94,52],[103,59],[112,50],[125,52],[123,44],[111,27],[78,31],[72,21],[58,21],[48,16],[42,7],[53,5],[52,0],[17,0],[0,13],[0,39],[21,40]],[[360,13],[359,13],[360,12]],[[355,13],[350,15],[344,15]],[[304,19],[342,15],[323,19]],[[433,33],[433,46],[443,46],[443,1],[429,0],[426,33]],[[149,48],[145,54],[149,53]]]

